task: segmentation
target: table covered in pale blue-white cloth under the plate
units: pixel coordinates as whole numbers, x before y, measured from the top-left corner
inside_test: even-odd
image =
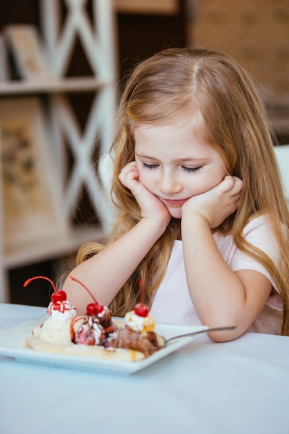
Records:
[[[46,309],[0,304],[0,329]],[[132,376],[0,357],[1,434],[288,434],[289,338],[202,336]]]

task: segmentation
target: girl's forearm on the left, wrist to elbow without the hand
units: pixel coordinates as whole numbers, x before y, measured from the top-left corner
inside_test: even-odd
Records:
[[[71,276],[82,281],[98,303],[108,306],[165,229],[166,225],[157,220],[142,218],[130,232],[74,268]],[[69,277],[63,290],[80,314],[85,313],[87,304],[93,302]]]

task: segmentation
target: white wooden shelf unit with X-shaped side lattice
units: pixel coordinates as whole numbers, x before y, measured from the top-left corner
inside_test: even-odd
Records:
[[[49,145],[53,148],[53,170],[60,182],[67,230],[62,236],[6,251],[3,248],[5,203],[0,204],[0,302],[10,301],[8,270],[71,254],[83,243],[100,240],[108,229],[111,218],[110,204],[102,183],[96,176],[91,153],[94,152],[96,137],[99,137],[98,153],[101,155],[107,153],[112,140],[116,106],[116,44],[112,2],[92,0],[93,16],[88,17],[86,0],[65,0],[66,14],[63,18],[61,0],[39,1],[44,49],[53,78],[0,83],[0,96],[37,96],[49,101]],[[92,75],[66,78],[76,37],[82,44]],[[82,130],[67,98],[68,94],[74,92],[94,94]],[[65,147],[73,155],[73,167],[68,180],[64,179],[64,173],[67,175]],[[87,189],[91,206],[100,221],[97,227],[75,227],[69,223],[76,211],[82,186]]]

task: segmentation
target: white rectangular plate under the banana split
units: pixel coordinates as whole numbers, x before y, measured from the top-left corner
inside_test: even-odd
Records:
[[[134,372],[143,370],[143,368],[152,365],[168,354],[177,351],[177,349],[189,344],[196,336],[187,336],[168,342],[164,349],[159,349],[152,356],[137,361],[123,362],[101,360],[98,358],[90,358],[85,356],[70,356],[67,354],[49,354],[33,349],[24,348],[24,339],[30,336],[31,330],[37,325],[42,324],[47,316],[38,320],[28,321],[12,329],[0,331],[0,354],[3,356],[13,357],[20,362],[37,363],[41,365],[51,365],[58,367],[66,367],[78,370],[92,372],[107,372],[110,374],[129,375]],[[119,320],[120,318],[116,318]],[[168,339],[172,336],[190,333],[191,331],[207,330],[206,326],[180,326],[172,324],[157,324],[157,333]]]

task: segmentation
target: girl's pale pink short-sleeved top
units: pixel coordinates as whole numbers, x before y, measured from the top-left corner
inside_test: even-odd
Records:
[[[268,255],[279,268],[280,254],[277,243],[270,232],[270,225],[264,217],[252,220],[244,229],[244,236],[249,243],[255,245]],[[213,234],[218,250],[231,270],[254,270],[265,275],[276,288],[270,273],[247,254],[236,248],[233,237]],[[194,309],[189,288],[186,284],[182,241],[175,241],[168,262],[166,275],[159,288],[155,291],[151,315],[157,322],[170,324],[201,324]],[[283,319],[281,296],[271,295],[265,309],[259,315],[249,331],[259,333],[280,334]],[[222,324],[224,325],[224,324]]]

